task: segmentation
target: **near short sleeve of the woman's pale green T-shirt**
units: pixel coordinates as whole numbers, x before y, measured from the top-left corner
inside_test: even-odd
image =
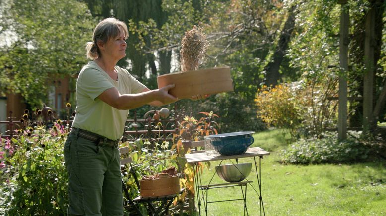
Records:
[[[94,68],[86,68],[79,74],[76,91],[87,95],[93,100],[100,94],[115,86],[100,71]]]

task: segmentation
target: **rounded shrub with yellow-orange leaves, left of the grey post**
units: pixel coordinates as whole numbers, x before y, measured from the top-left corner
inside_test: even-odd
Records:
[[[336,127],[336,80],[325,83],[292,82],[274,88],[264,86],[256,94],[257,116],[274,127],[288,129],[292,138],[322,137]]]

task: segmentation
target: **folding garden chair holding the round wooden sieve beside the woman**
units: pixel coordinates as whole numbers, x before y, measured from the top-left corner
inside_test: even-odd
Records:
[[[124,175],[127,175],[128,169],[130,167],[129,172],[134,177],[134,181],[136,184],[136,189],[139,191],[139,181],[135,174],[134,167],[132,166],[132,159],[129,157],[129,148],[123,147],[120,148],[120,154],[121,154],[121,170]],[[172,204],[174,198],[178,194],[172,194],[168,196],[159,196],[159,197],[141,197],[137,196],[136,198],[132,199],[129,195],[129,187],[126,185],[126,183],[122,180],[122,188],[125,194],[125,198],[127,201],[124,201],[124,208],[130,212],[130,215],[139,215],[142,216],[141,208],[139,204],[145,204],[147,206],[148,215],[151,216],[158,216],[158,215],[165,215],[168,213],[169,207]],[[180,193],[184,191],[184,189],[181,189]]]

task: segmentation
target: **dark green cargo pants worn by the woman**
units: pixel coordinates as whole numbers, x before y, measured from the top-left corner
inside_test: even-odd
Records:
[[[68,215],[122,216],[119,149],[96,145],[72,130],[64,144],[68,171]]]

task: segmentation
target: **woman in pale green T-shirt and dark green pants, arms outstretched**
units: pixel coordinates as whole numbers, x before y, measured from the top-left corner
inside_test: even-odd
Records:
[[[177,98],[174,85],[149,90],[116,66],[125,57],[128,30],[115,19],[102,20],[86,46],[90,61],[76,82],[76,115],[64,145],[69,174],[68,215],[123,215],[118,140],[129,109],[161,106]]]

